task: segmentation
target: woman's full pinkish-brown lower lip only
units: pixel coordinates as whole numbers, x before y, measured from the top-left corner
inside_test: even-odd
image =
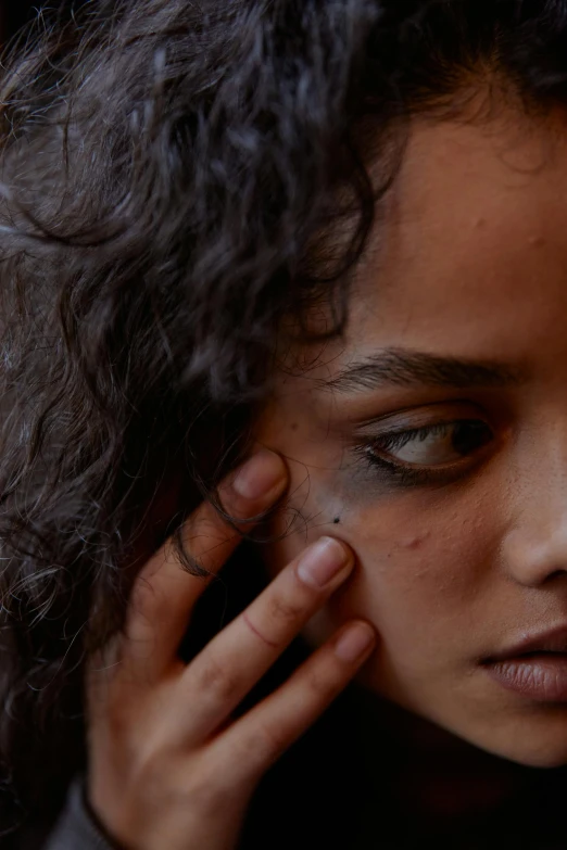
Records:
[[[486,670],[506,690],[538,702],[567,702],[567,654],[511,658]]]

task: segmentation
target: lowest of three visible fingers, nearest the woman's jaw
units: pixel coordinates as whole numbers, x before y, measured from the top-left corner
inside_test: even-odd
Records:
[[[260,778],[323,714],[375,646],[376,632],[369,623],[356,621],[342,629],[215,740],[219,770],[230,770],[234,782]]]

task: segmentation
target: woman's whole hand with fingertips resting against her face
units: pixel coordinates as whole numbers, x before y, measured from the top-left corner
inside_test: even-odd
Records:
[[[262,451],[220,487],[243,521],[287,486],[284,461]],[[250,523],[241,528],[250,530]],[[240,536],[203,503],[184,527],[186,548],[218,572]],[[189,663],[177,649],[210,581],[190,575],[171,542],[142,568],[124,633],[87,674],[88,797],[127,850],[230,850],[265,771],[304,733],[371,654],[367,623],[346,624],[248,713],[230,713],[348,578],[351,549],[320,538]]]

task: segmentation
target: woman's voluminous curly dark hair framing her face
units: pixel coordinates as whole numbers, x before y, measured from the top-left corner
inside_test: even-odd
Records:
[[[199,571],[176,532],[245,454],[278,353],[322,339],[322,300],[342,333],[407,118],[479,87],[565,102],[567,2],[91,0],[5,51],[7,833],[85,763],[81,671],[137,569],[174,534]]]

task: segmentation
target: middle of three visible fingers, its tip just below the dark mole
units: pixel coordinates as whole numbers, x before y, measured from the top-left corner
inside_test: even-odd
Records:
[[[191,706],[179,714],[184,744],[203,740],[228,718],[353,564],[344,543],[319,538],[207,644],[180,683],[180,700]]]

